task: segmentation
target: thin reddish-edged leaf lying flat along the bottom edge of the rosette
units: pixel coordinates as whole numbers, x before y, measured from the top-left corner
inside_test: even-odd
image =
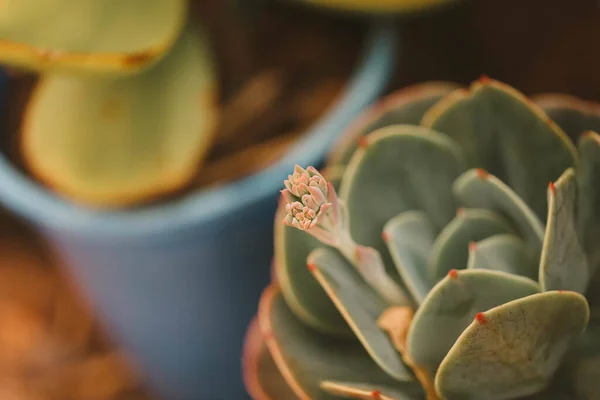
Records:
[[[401,386],[402,385],[402,386]],[[321,388],[343,399],[363,400],[421,400],[423,389],[418,383],[404,383],[394,386],[372,385],[357,382],[324,381]]]

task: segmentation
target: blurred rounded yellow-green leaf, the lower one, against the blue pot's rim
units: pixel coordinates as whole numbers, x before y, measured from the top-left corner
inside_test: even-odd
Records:
[[[216,131],[207,45],[189,27],[140,74],[44,76],[25,110],[27,166],[59,193],[97,207],[135,204],[187,184]]]

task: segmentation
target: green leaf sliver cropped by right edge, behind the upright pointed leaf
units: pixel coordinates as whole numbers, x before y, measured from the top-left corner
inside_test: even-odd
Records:
[[[590,268],[595,272],[600,270],[600,135],[591,131],[583,135],[579,140],[579,153],[578,232]]]

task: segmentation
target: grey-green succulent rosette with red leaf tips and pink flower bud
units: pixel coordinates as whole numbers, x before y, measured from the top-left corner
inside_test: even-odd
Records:
[[[250,394],[599,398],[598,107],[482,77],[358,121],[284,182]]]

